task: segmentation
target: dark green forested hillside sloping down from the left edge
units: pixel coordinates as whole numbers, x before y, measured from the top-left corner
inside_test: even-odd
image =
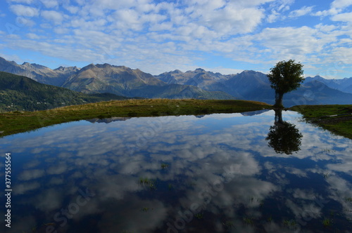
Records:
[[[66,88],[39,84],[25,76],[0,72],[0,112],[44,110],[127,98],[110,93],[87,95]]]

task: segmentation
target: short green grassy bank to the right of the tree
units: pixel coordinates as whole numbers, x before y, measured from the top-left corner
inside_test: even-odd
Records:
[[[290,110],[300,112],[310,123],[352,139],[352,105],[299,105]]]

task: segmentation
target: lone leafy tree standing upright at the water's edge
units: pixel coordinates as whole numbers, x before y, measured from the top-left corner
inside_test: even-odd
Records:
[[[284,108],[282,97],[284,93],[296,90],[304,80],[303,65],[295,63],[294,60],[277,62],[276,66],[270,69],[268,74],[271,88],[275,90],[275,105],[277,108]]]

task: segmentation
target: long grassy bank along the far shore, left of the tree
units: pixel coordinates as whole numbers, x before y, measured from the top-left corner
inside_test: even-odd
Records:
[[[114,100],[37,112],[3,113],[0,114],[0,137],[83,119],[103,119],[113,116],[201,115],[269,108],[271,106],[263,102],[245,100]]]

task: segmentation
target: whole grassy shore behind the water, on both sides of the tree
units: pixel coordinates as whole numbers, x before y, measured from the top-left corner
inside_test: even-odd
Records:
[[[272,106],[264,102],[246,100],[112,100],[35,112],[1,113],[0,135],[3,137],[54,124],[113,116],[202,115],[250,112],[260,109],[272,109]],[[299,105],[290,107],[289,110],[300,112],[303,114],[303,119],[311,124],[352,139],[352,105]]]

